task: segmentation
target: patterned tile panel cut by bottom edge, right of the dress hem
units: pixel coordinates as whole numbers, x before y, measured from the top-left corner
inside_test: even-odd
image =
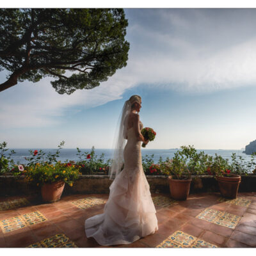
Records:
[[[156,248],[218,248],[218,246],[178,230]]]

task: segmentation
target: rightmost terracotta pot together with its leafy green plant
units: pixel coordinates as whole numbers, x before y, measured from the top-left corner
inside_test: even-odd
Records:
[[[232,172],[234,171],[234,157],[232,164],[229,165],[226,159],[215,154],[211,170],[218,181],[221,195],[225,198],[236,198],[241,176]]]

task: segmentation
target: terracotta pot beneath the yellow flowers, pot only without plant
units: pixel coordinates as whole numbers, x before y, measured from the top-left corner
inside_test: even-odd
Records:
[[[56,202],[60,200],[64,186],[65,182],[62,180],[53,182],[52,184],[44,184],[41,187],[42,199],[45,202]]]

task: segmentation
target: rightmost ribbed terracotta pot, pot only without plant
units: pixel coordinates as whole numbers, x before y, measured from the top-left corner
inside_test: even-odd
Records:
[[[216,176],[218,180],[220,193],[223,197],[236,198],[239,184],[241,182],[241,176],[236,174],[230,174],[230,177]]]

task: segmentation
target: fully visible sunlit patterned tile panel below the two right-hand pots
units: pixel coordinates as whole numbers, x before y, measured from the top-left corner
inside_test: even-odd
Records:
[[[200,212],[196,218],[233,229],[241,219],[240,216],[209,208],[205,209],[203,212]]]

